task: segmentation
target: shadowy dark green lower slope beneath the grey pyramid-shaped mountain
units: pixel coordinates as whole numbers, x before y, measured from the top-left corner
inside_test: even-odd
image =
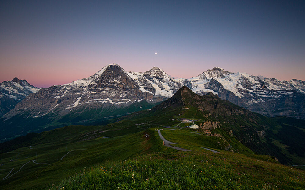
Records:
[[[146,100],[127,107],[103,106],[98,108],[83,108],[62,116],[60,113],[48,113],[41,117],[29,117],[31,112],[13,116],[10,119],[1,118],[0,142],[12,140],[28,133],[40,133],[68,125],[107,125],[115,118],[128,115],[143,109],[150,109],[155,104]]]

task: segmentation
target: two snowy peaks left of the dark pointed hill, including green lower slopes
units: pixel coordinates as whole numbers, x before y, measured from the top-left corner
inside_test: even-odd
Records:
[[[180,86],[157,67],[133,73],[109,64],[88,78],[30,94],[1,118],[0,130],[7,134],[0,134],[0,141],[69,124],[106,124],[109,119],[152,108]]]

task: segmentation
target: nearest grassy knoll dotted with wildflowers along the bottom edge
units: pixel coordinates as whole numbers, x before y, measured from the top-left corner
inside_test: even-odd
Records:
[[[304,189],[304,171],[222,152],[158,152],[84,168],[48,189]]]

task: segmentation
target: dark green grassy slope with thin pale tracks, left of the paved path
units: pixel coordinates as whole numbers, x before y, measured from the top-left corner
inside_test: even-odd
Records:
[[[136,127],[134,128],[134,130],[139,130]],[[145,137],[146,134],[149,134],[148,138]],[[109,136],[109,133],[105,136]],[[11,168],[14,168],[11,173],[13,174],[23,164],[34,159],[37,163],[51,164],[38,165],[30,162],[12,177],[1,180],[1,189],[41,189],[52,183],[58,183],[63,178],[71,176],[84,167],[90,167],[109,160],[119,161],[132,158],[135,155],[151,151],[170,149],[159,146],[162,141],[154,137],[152,130],[113,138],[100,137],[94,140],[74,142],[75,139],[78,139],[77,137],[74,136],[70,140],[66,139],[37,144],[32,147],[23,147],[9,153],[0,154],[2,158],[1,164],[4,164],[0,170],[2,178],[9,173]],[[154,146],[155,144],[156,146]],[[60,160],[67,152],[75,149],[86,150],[72,151]]]

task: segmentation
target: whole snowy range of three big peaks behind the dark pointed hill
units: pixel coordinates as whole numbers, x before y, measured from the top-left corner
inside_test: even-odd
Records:
[[[109,64],[88,78],[28,95],[2,117],[1,130],[12,131],[0,138],[67,124],[106,124],[109,119],[150,109],[182,86],[199,95],[212,92],[264,116],[305,119],[305,81],[261,79],[218,67],[190,79],[172,78],[157,67],[141,73]]]

